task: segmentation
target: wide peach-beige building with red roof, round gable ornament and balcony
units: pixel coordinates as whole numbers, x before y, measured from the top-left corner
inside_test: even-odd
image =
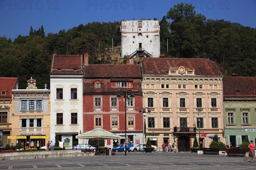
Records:
[[[179,151],[189,151],[194,136],[209,147],[215,134],[225,143],[223,76],[214,62],[144,58],[140,64],[146,136],[158,148],[176,141]]]

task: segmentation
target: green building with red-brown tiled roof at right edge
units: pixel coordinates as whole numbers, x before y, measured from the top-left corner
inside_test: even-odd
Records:
[[[226,144],[234,147],[256,141],[256,77],[224,77],[224,127]]]

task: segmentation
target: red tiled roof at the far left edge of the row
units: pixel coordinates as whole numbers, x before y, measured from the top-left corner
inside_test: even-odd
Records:
[[[15,88],[17,79],[17,77],[0,77],[0,98],[12,96],[12,89]],[[2,91],[6,91],[6,95],[2,95]]]

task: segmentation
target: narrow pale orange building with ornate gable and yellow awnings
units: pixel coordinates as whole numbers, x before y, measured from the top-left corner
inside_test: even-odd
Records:
[[[12,134],[9,139],[14,145],[20,142],[24,149],[39,149],[50,140],[50,90],[46,84],[44,89],[38,89],[35,82],[31,77],[27,81],[26,89],[12,90],[15,110],[12,114]]]

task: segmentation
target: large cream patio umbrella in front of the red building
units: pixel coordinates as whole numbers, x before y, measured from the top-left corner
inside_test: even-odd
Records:
[[[121,139],[122,137],[102,128],[96,128],[85,133],[76,135],[76,139]],[[99,143],[98,143],[99,146]],[[98,147],[99,151],[99,147]]]

